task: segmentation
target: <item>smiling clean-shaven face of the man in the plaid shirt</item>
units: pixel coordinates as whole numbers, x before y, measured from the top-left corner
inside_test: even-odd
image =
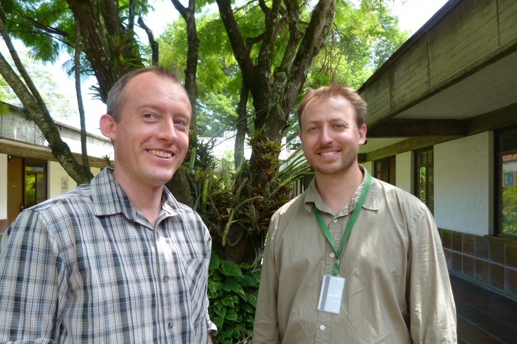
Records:
[[[124,88],[121,118],[103,115],[101,132],[113,140],[121,185],[160,187],[183,162],[192,114],[184,88],[153,72],[139,74]]]

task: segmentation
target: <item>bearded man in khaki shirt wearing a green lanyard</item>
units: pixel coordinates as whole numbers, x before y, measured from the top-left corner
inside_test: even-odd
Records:
[[[457,342],[431,213],[357,163],[366,103],[321,87],[297,114],[316,176],[271,218],[253,343]]]

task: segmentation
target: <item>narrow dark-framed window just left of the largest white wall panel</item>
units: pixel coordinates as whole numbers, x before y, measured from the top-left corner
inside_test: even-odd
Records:
[[[415,152],[415,196],[434,214],[433,149]]]

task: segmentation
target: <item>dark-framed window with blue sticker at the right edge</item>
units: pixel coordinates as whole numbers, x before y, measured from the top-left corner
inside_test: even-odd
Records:
[[[496,228],[499,234],[517,236],[517,131],[497,136],[496,164]]]

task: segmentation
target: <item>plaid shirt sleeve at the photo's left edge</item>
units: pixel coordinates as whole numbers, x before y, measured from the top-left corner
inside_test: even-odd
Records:
[[[0,341],[54,342],[67,279],[42,216],[26,210],[0,245]]]

